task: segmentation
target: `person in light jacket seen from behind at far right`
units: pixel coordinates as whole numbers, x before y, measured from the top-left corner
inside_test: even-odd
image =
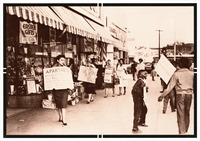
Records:
[[[162,101],[162,99],[175,88],[179,134],[185,134],[188,131],[190,123],[190,107],[194,90],[194,72],[189,70],[190,62],[187,58],[181,58],[179,60],[179,67],[180,69],[171,77],[167,89],[158,97],[158,101]]]

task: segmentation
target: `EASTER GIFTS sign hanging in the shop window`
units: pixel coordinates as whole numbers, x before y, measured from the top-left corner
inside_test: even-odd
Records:
[[[20,21],[19,43],[38,44],[38,26],[37,24]]]

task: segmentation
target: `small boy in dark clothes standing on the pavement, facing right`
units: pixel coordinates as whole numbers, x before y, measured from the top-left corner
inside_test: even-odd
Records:
[[[132,96],[134,103],[134,119],[133,119],[133,132],[141,132],[138,128],[139,125],[147,127],[145,124],[145,118],[147,114],[147,107],[144,101],[144,94],[146,91],[145,79],[147,72],[140,70],[138,72],[138,80],[132,88]]]

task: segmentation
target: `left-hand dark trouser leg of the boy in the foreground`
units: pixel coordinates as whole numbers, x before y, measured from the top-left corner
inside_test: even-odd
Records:
[[[138,129],[138,123],[142,114],[142,100],[138,99],[137,96],[133,95],[134,102],[134,118],[133,118],[133,128]]]

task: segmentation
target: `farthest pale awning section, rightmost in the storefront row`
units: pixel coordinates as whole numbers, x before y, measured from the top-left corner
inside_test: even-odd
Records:
[[[104,42],[108,42],[108,43],[113,43],[114,42],[114,39],[113,37],[110,35],[110,33],[105,29],[105,27],[89,20],[89,19],[86,19],[84,18],[88,24],[90,24],[90,26],[99,34],[99,36],[101,36],[102,38],[102,41]]]

